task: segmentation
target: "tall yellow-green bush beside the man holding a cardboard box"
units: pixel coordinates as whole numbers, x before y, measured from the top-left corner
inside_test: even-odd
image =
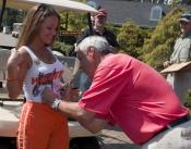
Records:
[[[163,62],[169,60],[174,51],[177,37],[180,36],[178,20],[184,11],[183,8],[172,9],[157,25],[150,39],[145,40],[142,48],[141,60],[154,69],[163,70]]]

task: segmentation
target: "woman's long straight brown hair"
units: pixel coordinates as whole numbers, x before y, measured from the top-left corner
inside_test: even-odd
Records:
[[[41,3],[39,5],[35,5],[32,10],[29,10],[24,20],[23,29],[16,49],[21,48],[22,46],[28,46],[34,40],[36,35],[39,34],[41,24],[45,21],[45,18],[49,16],[58,17],[59,20],[58,28],[59,28],[60,15],[51,7]]]

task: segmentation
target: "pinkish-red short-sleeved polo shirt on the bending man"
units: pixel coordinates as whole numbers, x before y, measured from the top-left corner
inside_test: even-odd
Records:
[[[127,54],[108,54],[79,104],[117,123],[135,144],[151,139],[177,117],[188,114],[166,79]]]

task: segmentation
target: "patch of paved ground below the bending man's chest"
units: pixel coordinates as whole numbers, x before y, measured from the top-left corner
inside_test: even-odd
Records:
[[[102,149],[141,149],[119,127],[107,126],[98,137]]]

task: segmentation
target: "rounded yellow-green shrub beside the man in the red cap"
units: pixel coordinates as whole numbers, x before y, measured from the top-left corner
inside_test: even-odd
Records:
[[[140,48],[143,46],[144,39],[148,37],[148,33],[147,29],[140,28],[132,21],[124,23],[117,36],[121,51],[139,58]]]

